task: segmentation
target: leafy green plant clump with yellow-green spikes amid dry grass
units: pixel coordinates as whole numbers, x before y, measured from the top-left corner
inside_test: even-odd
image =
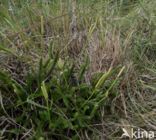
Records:
[[[5,88],[15,99],[11,108],[1,102],[3,108],[0,112],[11,117],[10,113],[6,114],[6,110],[14,110],[16,123],[20,122],[27,129],[32,128],[33,137],[45,137],[44,131],[51,132],[49,137],[73,137],[81,129],[87,129],[95,118],[98,122],[99,114],[96,112],[103,106],[102,102],[109,98],[108,92],[115,86],[123,71],[120,70],[117,79],[110,83],[110,88],[105,89],[105,81],[100,82],[101,79],[95,87],[83,82],[83,67],[79,76],[81,80],[77,81],[74,66],[66,63],[60,67],[60,63],[58,56],[49,58],[45,63],[41,60],[39,69],[28,74],[24,85],[11,77],[3,78],[3,73],[0,75],[3,83],[1,88],[7,83]],[[3,98],[6,98],[4,93]],[[12,126],[12,130],[15,129]],[[18,134],[20,133],[24,133],[22,129],[19,129]],[[11,137],[13,135],[9,133],[8,138]]]

